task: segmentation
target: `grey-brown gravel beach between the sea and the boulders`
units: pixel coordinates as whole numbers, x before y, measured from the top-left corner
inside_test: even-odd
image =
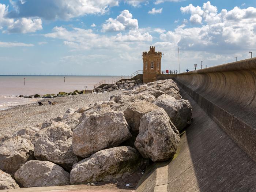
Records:
[[[37,124],[63,115],[68,108],[78,109],[82,106],[89,106],[97,101],[107,101],[112,95],[120,95],[122,90],[111,91],[104,94],[82,94],[68,97],[56,97],[52,99],[40,99],[44,105],[39,106],[37,102],[27,105],[13,106],[9,109],[0,110],[0,141],[5,136],[12,136],[16,131],[30,125],[37,127]],[[56,105],[49,105],[48,101],[56,102]]]

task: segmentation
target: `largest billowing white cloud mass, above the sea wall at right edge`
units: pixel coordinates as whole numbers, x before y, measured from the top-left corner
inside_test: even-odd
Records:
[[[208,50],[227,53],[231,50],[247,50],[256,45],[256,8],[221,10],[211,5],[203,7],[189,4],[181,7],[182,13],[191,14],[190,22],[199,27],[178,26],[160,35],[162,41],[181,46],[186,50]],[[242,45],[242,46],[241,46]]]

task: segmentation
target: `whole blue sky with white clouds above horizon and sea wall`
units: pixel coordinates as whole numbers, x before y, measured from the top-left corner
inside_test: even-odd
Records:
[[[192,71],[256,55],[255,0],[0,0],[0,75]]]

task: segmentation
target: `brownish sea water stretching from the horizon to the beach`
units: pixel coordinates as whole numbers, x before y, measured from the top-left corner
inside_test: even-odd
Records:
[[[58,94],[60,91],[92,90],[101,80],[119,76],[0,76],[0,110],[37,101],[17,95]],[[25,84],[24,84],[25,78]],[[65,79],[65,82],[64,82]]]

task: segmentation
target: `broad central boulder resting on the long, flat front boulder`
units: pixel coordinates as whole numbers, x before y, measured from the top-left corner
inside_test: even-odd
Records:
[[[118,146],[131,137],[123,112],[102,104],[83,114],[84,120],[73,131],[73,150],[80,157]]]

